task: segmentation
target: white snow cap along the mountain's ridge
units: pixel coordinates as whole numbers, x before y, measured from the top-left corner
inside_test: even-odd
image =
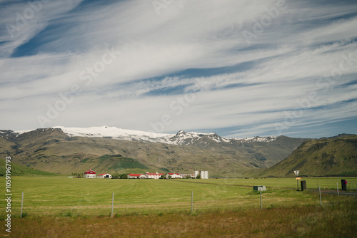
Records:
[[[211,143],[250,143],[264,142],[269,143],[276,140],[276,137],[254,137],[254,138],[223,138],[216,133],[195,133],[178,131],[176,134],[150,133],[140,130],[125,130],[116,127],[101,126],[91,128],[66,128],[64,126],[55,126],[53,128],[61,129],[66,135],[71,137],[82,136],[89,138],[113,138],[118,140],[143,141],[151,143],[165,143],[171,145],[211,145]],[[18,131],[25,133],[27,131]]]

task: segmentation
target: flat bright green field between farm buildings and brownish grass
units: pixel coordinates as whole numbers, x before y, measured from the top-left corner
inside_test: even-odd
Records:
[[[340,178],[306,178],[308,189],[317,183],[324,190],[341,190]],[[350,178],[356,182],[357,179]],[[26,216],[76,216],[159,214],[212,209],[260,208],[260,195],[253,185],[265,185],[263,207],[316,205],[318,195],[296,191],[293,178],[210,179],[210,180],[101,180],[68,177],[13,177],[12,214],[19,215],[24,192],[23,214]],[[5,191],[5,183],[0,184]],[[4,194],[1,202],[4,203]],[[4,210],[0,212],[1,217]]]

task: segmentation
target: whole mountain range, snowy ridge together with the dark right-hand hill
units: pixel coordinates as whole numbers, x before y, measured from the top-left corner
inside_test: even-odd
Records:
[[[357,135],[307,139],[223,138],[216,133],[147,133],[102,126],[0,130],[0,157],[62,175],[208,170],[211,177],[357,175]],[[1,165],[0,165],[1,167]],[[24,172],[18,167],[19,174]],[[36,172],[39,174],[39,172]]]

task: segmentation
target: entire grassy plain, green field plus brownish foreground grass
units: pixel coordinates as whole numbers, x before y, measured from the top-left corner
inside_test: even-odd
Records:
[[[306,180],[311,188],[316,187],[316,181],[326,189],[336,187],[336,182],[341,184],[341,178]],[[356,178],[348,181],[356,182]],[[4,184],[0,183],[1,191],[5,191]],[[267,187],[262,210],[253,185]],[[87,237],[89,233],[101,237],[353,237],[357,232],[356,197],[323,195],[320,206],[318,194],[296,191],[296,180],[291,178],[13,177],[11,189],[14,237]],[[0,195],[1,207],[5,207],[4,194]],[[2,227],[4,216],[5,209],[1,209]],[[8,233],[1,229],[0,236],[5,235]]]

